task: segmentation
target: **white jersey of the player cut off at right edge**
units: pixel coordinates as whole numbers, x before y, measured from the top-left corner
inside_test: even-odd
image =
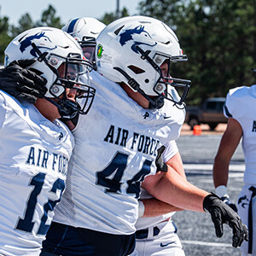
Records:
[[[236,119],[242,128],[242,149],[246,171],[244,182],[256,184],[256,85],[230,90],[224,106],[224,114]]]

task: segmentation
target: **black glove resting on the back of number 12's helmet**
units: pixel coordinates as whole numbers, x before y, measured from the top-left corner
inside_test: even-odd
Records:
[[[9,66],[0,70],[0,90],[15,96],[18,100],[34,103],[38,98],[43,98],[47,88],[47,80],[26,69],[36,59],[12,61]]]

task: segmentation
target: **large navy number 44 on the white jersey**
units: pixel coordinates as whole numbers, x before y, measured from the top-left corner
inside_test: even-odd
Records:
[[[113,192],[118,193],[121,192],[120,182],[123,177],[125,168],[127,166],[128,154],[117,153],[113,157],[113,160],[109,163],[109,165],[101,172],[96,172],[97,181],[96,183],[106,187],[108,189],[105,190],[106,193]],[[143,182],[144,177],[150,173],[150,166],[152,161],[145,160],[143,163],[143,167],[140,172],[132,177],[131,180],[128,180],[128,188],[126,189],[127,193],[135,194],[136,198],[139,197],[140,193],[140,185]]]

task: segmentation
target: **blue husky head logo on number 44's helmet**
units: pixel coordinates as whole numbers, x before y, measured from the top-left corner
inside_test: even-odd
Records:
[[[141,34],[144,34],[145,38],[147,38],[147,37],[151,38],[150,34],[144,30],[144,26],[141,25],[141,26],[137,26],[133,29],[126,29],[125,32],[122,32],[120,34],[119,43],[122,46],[124,46],[127,42],[133,41],[133,44],[131,45],[131,49],[136,53],[138,53],[138,51],[136,49],[137,45],[144,44],[144,45],[148,45],[148,46],[154,46],[155,44],[157,44],[155,42],[154,44],[150,45],[150,44],[146,44],[146,43],[137,41],[136,35],[141,35]]]

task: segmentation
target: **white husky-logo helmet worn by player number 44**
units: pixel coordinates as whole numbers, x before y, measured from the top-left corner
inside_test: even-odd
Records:
[[[106,26],[96,43],[96,67],[104,77],[128,84],[148,99],[151,108],[161,108],[164,98],[183,105],[191,82],[171,78],[169,72],[163,75],[160,66],[165,62],[169,70],[171,62],[188,58],[165,23],[145,16],[121,18]],[[169,93],[172,86],[182,89],[180,97]]]

